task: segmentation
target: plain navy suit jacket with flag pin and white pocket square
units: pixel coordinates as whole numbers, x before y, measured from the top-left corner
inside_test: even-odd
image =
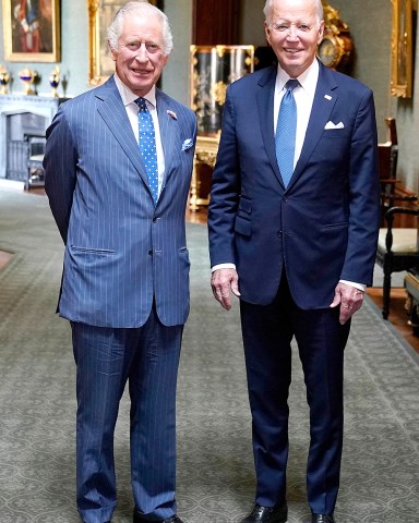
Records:
[[[247,302],[271,303],[285,267],[300,308],[328,307],[339,279],[372,282],[380,216],[373,95],[320,63],[285,188],[275,155],[276,71],[228,86],[208,210],[211,264],[236,264]],[[326,130],[330,121],[344,127]]]

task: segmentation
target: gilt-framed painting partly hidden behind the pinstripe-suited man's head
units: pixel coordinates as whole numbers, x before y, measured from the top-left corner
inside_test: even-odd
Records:
[[[99,85],[115,71],[110,57],[107,29],[119,8],[127,0],[87,0],[88,1],[88,84]],[[147,1],[147,0],[144,0]],[[149,0],[161,9],[161,1]]]

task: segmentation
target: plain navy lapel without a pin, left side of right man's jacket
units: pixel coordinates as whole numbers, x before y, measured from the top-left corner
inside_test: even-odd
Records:
[[[266,74],[259,82],[260,89],[256,94],[259,121],[261,133],[265,146],[266,155],[271,161],[276,178],[283,184],[276,160],[275,133],[274,133],[274,94],[277,68],[273,66],[266,71]]]

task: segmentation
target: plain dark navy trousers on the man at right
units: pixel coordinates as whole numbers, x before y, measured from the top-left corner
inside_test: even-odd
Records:
[[[332,300],[331,300],[332,302]],[[272,507],[286,499],[288,390],[295,337],[310,408],[307,488],[312,512],[331,513],[339,488],[343,447],[344,350],[350,321],[338,308],[302,311],[283,277],[275,301],[241,301],[241,326],[252,413],[256,502]]]

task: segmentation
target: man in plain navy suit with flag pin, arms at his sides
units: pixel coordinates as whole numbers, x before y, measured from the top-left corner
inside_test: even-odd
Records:
[[[344,349],[379,229],[373,95],[316,59],[321,0],[267,0],[264,13],[279,63],[228,86],[208,210],[214,295],[226,309],[230,291],[240,296],[256,471],[242,523],[287,521],[294,337],[310,406],[311,521],[334,522]]]

